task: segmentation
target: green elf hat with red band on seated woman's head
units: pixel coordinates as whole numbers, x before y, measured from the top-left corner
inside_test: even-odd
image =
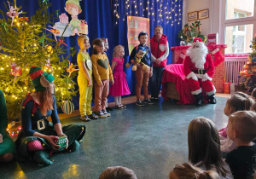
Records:
[[[42,68],[38,66],[31,66],[29,77],[36,91],[45,90],[55,79],[50,72],[43,72]]]

